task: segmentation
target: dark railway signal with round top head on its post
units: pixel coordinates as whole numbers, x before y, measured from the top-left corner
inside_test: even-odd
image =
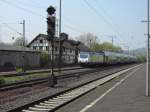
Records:
[[[50,76],[50,86],[54,87],[55,84],[57,84],[57,79],[54,75],[54,39],[55,39],[55,23],[56,23],[56,17],[55,17],[55,11],[56,9],[53,6],[49,6],[47,8],[47,34],[48,34],[48,40],[51,42],[51,76]]]

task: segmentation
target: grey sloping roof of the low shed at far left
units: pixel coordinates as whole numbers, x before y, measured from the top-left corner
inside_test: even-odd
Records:
[[[0,43],[0,51],[38,52],[38,51],[32,50],[32,49],[27,48],[27,47],[7,45],[7,44],[3,44],[3,43]]]

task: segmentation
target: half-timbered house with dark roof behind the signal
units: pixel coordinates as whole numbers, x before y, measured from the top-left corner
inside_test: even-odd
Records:
[[[59,60],[59,38],[55,38],[54,41],[54,57],[55,63]],[[89,50],[83,43],[79,45],[78,49],[72,44],[76,42],[74,40],[66,40],[62,46],[62,61],[63,63],[71,64],[76,62],[76,57],[80,50]],[[28,47],[33,50],[39,50],[51,54],[51,43],[48,41],[48,36],[45,34],[39,34],[29,44]],[[81,49],[80,49],[81,48]]]

